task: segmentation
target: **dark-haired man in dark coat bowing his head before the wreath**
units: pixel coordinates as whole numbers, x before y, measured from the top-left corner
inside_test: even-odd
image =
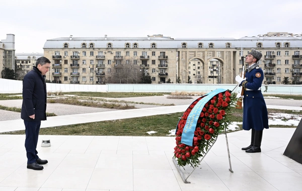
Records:
[[[47,160],[38,157],[36,150],[41,121],[46,120],[46,83],[45,74],[49,71],[50,61],[45,57],[37,59],[36,66],[23,79],[23,102],[21,118],[25,125],[25,148],[27,168],[42,170]]]

